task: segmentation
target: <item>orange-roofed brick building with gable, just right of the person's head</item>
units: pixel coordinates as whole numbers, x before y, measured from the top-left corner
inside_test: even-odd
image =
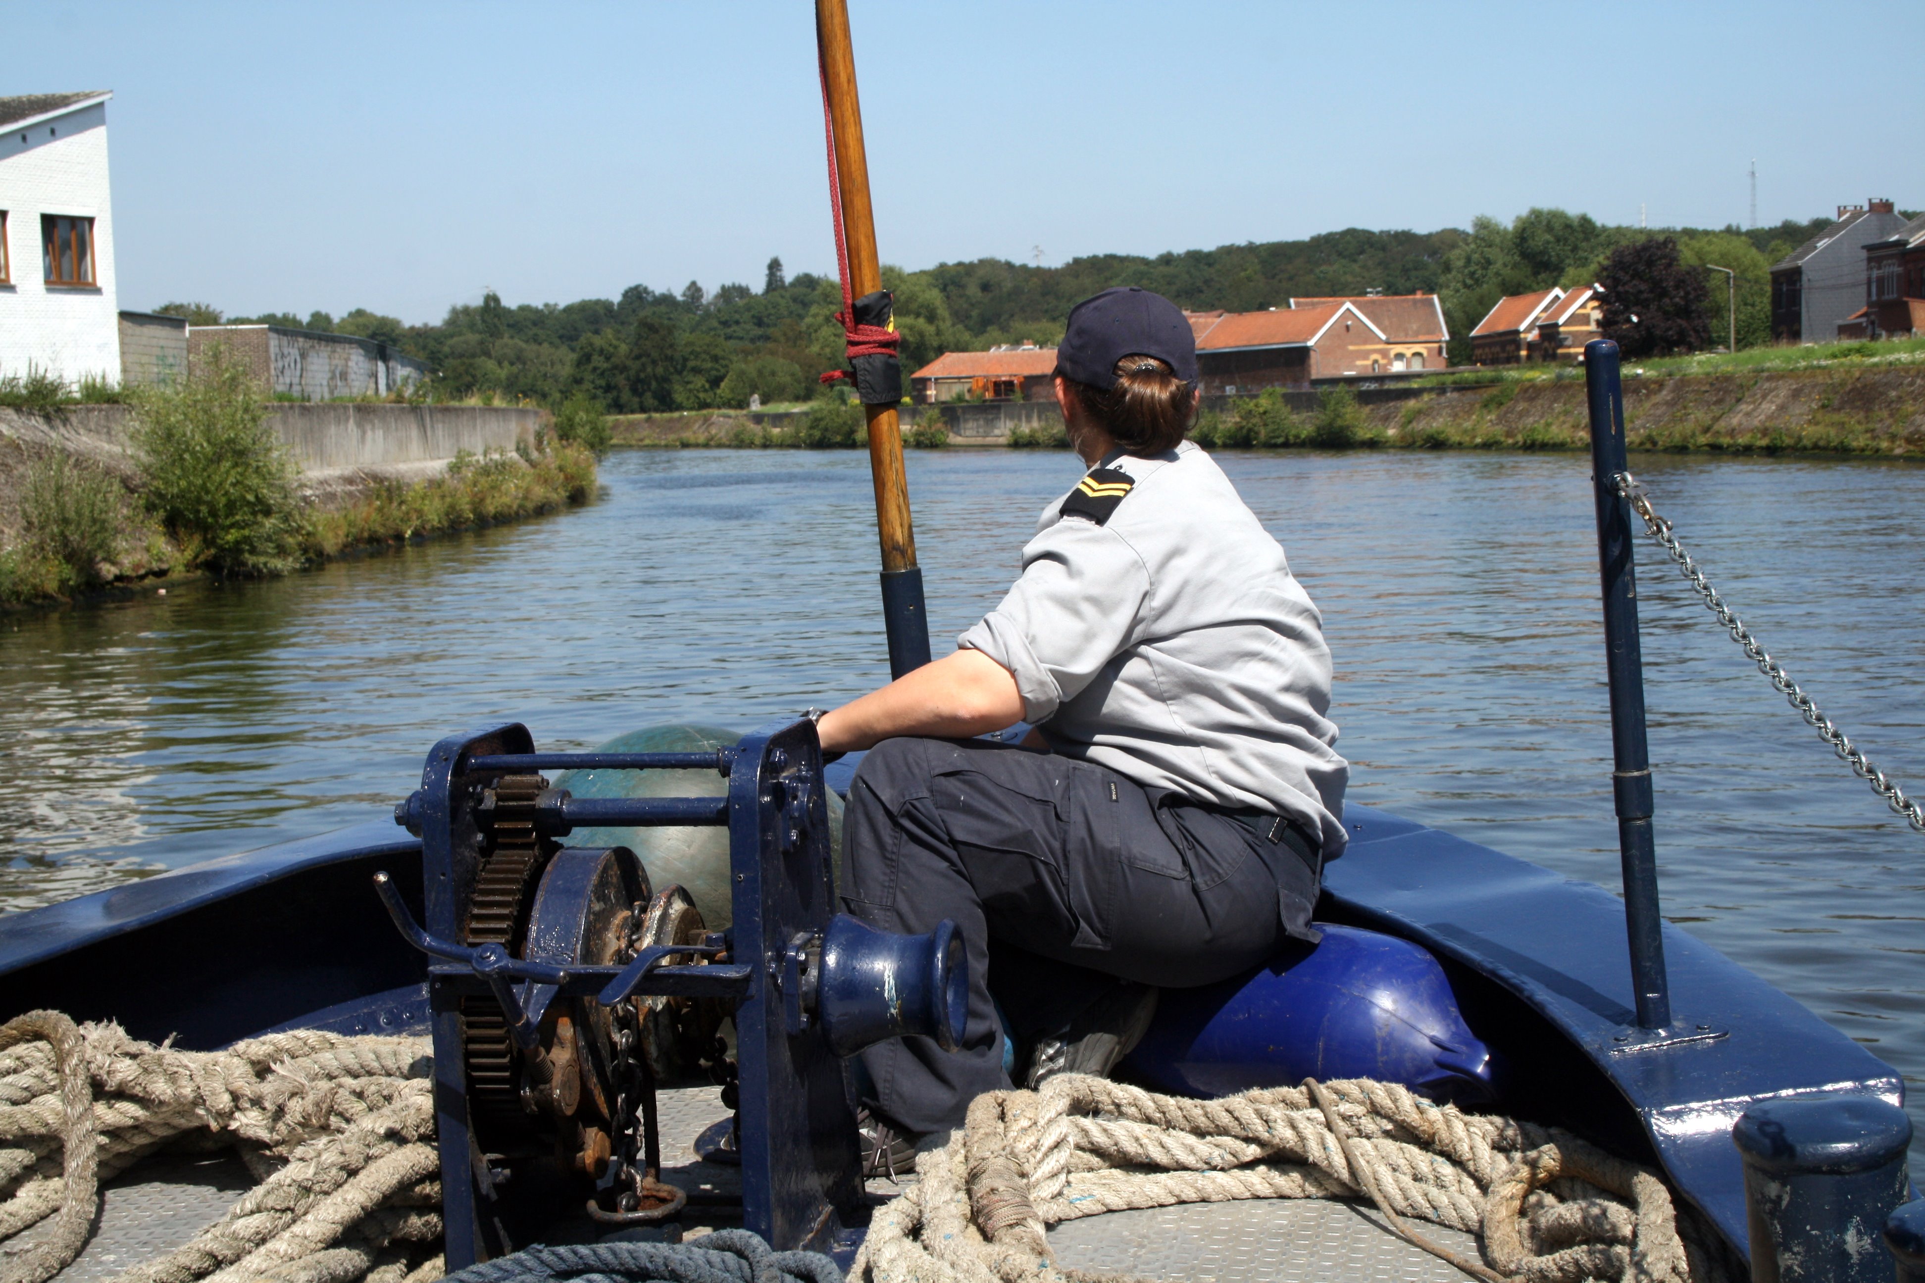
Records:
[[[1369,354],[1394,346],[1349,300],[1188,315],[1205,396],[1307,389],[1311,379],[1369,373],[1371,360],[1382,364]]]

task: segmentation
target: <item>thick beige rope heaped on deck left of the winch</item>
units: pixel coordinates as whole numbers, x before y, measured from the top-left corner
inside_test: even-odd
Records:
[[[85,1246],[98,1181],[169,1143],[237,1146],[256,1185],[123,1283],[431,1283],[441,1275],[427,1044],[314,1029],[183,1052],[31,1012],[0,1027],[0,1258],[42,1283]]]

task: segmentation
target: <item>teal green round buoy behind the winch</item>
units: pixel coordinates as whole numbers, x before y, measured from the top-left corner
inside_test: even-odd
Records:
[[[741,731],[676,723],[643,727],[618,735],[595,752],[705,752],[726,748]],[[562,771],[551,781],[578,798],[718,798],[728,794],[728,779],[714,771]],[[843,802],[830,792],[830,850],[835,881],[841,883]],[[728,829],[576,829],[570,846],[628,846],[649,869],[656,893],[680,885],[703,914],[710,931],[726,931],[733,919],[728,875]]]

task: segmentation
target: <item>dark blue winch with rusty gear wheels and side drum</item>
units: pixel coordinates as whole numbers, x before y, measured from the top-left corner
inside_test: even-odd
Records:
[[[576,798],[543,771],[714,769],[726,796]],[[776,1248],[849,1250],[866,1223],[845,1058],[891,1037],[955,1048],[968,958],[955,925],[876,931],[835,912],[814,723],[710,752],[535,752],[518,723],[435,744],[395,808],[422,839],[425,925],[375,891],[429,966],[447,1266],[556,1225],[581,1239],[672,1223],[654,1091],[705,1073],[735,1112],[743,1225]],[[732,921],[708,931],[626,846],[574,829],[724,825]],[[733,1041],[724,1037],[733,1025]]]

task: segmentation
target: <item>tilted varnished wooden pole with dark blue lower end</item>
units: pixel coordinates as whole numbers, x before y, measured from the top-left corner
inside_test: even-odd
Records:
[[[847,0],[816,0],[816,48],[835,131],[835,173],[849,240],[849,294],[882,289],[876,254],[876,215],[868,202],[868,154],[862,148],[862,104],[855,90],[855,48],[849,40]],[[889,629],[889,673],[901,677],[930,662],[922,571],[916,533],[909,519],[909,475],[903,469],[903,427],[895,406],[862,406],[868,415],[868,467],[876,483],[876,535],[882,541],[882,604]]]

